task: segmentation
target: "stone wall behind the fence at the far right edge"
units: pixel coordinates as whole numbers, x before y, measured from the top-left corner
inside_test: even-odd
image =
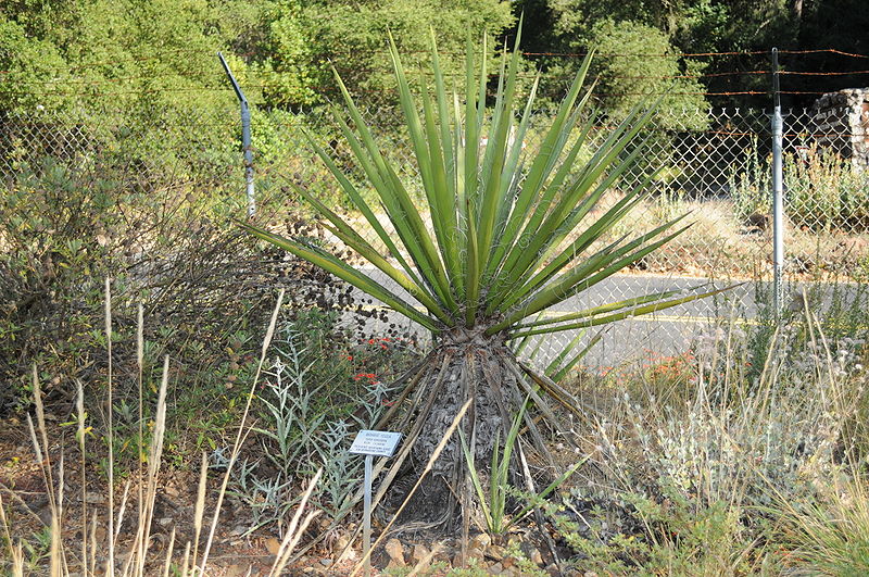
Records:
[[[852,159],[860,170],[869,170],[869,88],[823,95],[813,112],[818,146]]]

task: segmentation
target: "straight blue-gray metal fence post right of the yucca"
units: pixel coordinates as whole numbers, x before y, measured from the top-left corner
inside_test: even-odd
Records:
[[[784,203],[781,173],[782,133],[784,121],[781,115],[781,98],[779,90],[779,50],[772,49],[772,274],[773,305],[778,319],[784,305]]]

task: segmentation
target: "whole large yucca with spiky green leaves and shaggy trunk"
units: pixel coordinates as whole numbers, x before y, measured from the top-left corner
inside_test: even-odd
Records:
[[[410,465],[402,469],[406,471],[413,469],[413,463],[426,462],[467,399],[474,403],[462,428],[464,437],[474,440],[470,450],[477,463],[491,462],[496,431],[509,427],[511,415],[530,396],[533,409],[524,416],[522,435],[539,451],[540,462],[554,467],[537,416],[545,417],[546,427],[559,429],[561,425],[541,391],[568,411],[578,409],[563,388],[518,362],[508,342],[612,323],[704,296],[659,292],[582,311],[538,315],[642,259],[687,226],[679,224],[680,217],[635,238],[604,241],[647,195],[651,177],[608,209],[593,211],[642,153],[642,146],[634,140],[652,112],[635,110],[584,165],[577,166],[594,128],[594,115],[583,114],[590,92],[580,97],[589,57],[542,146],[526,153],[522,142],[538,83],[530,86],[524,105],[518,102],[518,41],[512,55],[505,51],[501,59],[491,108],[487,108],[490,75],[486,59],[479,59],[478,68],[470,41],[464,81],[455,83],[458,89],[448,89],[432,39],[431,71],[420,75],[416,93],[390,41],[401,110],[425,191],[421,208],[378,149],[343,85],[347,115],[336,114],[337,122],[386,217],[378,216],[339,164],[308,138],[369,229],[354,229],[304,188],[294,187],[297,192],[323,217],[328,230],[416,303],[320,247],[241,223],[257,237],[322,266],[431,331],[433,350],[401,379],[401,402],[378,423],[378,427],[406,434],[381,487],[388,486],[403,465]],[[366,239],[369,235],[376,235],[385,254]],[[517,447],[521,450],[521,443]],[[514,463],[513,474],[519,475],[519,468]],[[466,506],[473,500],[467,475],[458,440],[451,439],[426,480],[426,490],[420,491],[424,501],[420,506],[407,507],[416,512],[407,518],[452,527],[459,513],[473,509]]]

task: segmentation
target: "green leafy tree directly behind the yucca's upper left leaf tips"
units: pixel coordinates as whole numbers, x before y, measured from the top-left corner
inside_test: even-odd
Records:
[[[340,99],[333,66],[361,103],[377,105],[394,103],[396,98],[392,64],[383,43],[387,33],[392,34],[405,54],[408,70],[414,70],[425,60],[429,30],[433,28],[449,76],[461,73],[458,54],[466,34],[487,33],[491,57],[493,39],[513,24],[509,4],[499,0],[308,1],[286,3],[276,12],[278,17],[269,29],[273,49],[264,61],[266,67],[278,72],[281,78],[299,77],[301,71],[308,93]],[[289,96],[269,90],[267,102],[293,105],[311,101],[306,95],[300,95],[298,102]]]

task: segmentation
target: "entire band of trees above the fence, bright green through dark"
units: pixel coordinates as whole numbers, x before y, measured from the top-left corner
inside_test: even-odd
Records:
[[[468,34],[489,35],[491,58],[522,14],[522,48],[533,53],[525,66],[542,71],[542,95],[557,101],[579,65],[572,54],[596,48],[590,81],[597,79],[599,104],[616,115],[665,91],[664,111],[766,105],[765,95],[729,92],[768,91],[763,72],[772,47],[869,53],[864,0],[8,0],[0,5],[0,106],[232,104],[218,50],[260,106],[298,111],[335,100],[332,67],[361,103],[394,104],[389,34],[415,70],[436,30],[449,78]],[[792,96],[795,105],[869,84],[865,58],[835,51],[786,54],[782,67],[793,74],[783,89],[803,92]],[[839,75],[799,74],[807,72]]]

